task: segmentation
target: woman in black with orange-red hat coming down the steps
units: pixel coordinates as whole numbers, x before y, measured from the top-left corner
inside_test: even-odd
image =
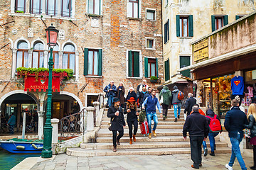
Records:
[[[138,115],[137,112],[137,102],[134,97],[131,97],[127,100],[127,106],[124,108],[124,114],[127,114],[127,124],[129,127],[129,144],[132,145],[132,137],[134,142],[136,142],[136,134],[138,131]],[[134,125],[134,132],[132,135],[132,125]]]

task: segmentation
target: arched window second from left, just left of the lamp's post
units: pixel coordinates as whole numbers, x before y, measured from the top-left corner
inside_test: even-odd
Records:
[[[32,68],[44,67],[43,65],[43,43],[36,42],[33,46]]]

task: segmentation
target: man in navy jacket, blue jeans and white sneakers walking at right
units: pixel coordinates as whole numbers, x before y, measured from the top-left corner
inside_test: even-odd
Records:
[[[232,166],[235,161],[235,157],[238,159],[240,167],[242,170],[247,169],[245,167],[245,162],[242,159],[242,155],[240,152],[239,144],[242,141],[243,137],[243,129],[244,125],[248,124],[248,120],[244,112],[240,111],[239,108],[239,101],[233,99],[231,101],[231,108],[230,111],[227,112],[225,116],[224,126],[225,129],[228,130],[228,137],[230,137],[230,142],[232,145],[232,154],[230,157],[230,162],[225,165],[228,170],[233,170]]]

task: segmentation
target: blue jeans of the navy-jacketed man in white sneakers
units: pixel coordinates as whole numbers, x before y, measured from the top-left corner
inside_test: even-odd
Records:
[[[240,137],[240,134],[238,134],[238,137],[230,137],[230,142],[232,145],[232,154],[231,154],[230,162],[228,163],[228,165],[232,167],[236,157],[238,159],[241,169],[243,170],[247,168],[245,167],[245,162],[243,161],[242,155],[240,152],[239,144],[241,141],[242,141],[242,137]]]

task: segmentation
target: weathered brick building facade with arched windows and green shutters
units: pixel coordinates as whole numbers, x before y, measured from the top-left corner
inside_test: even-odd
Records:
[[[51,23],[60,30],[54,68],[74,70],[74,78],[53,93],[58,118],[76,105],[90,106],[111,80],[117,86],[124,82],[126,89],[136,89],[144,78],[153,87],[163,81],[161,0],[0,0],[0,6],[1,113],[14,110],[21,119],[22,103],[35,104],[39,135],[47,95],[24,91],[16,68],[48,67],[45,29]],[[159,77],[158,83],[151,84],[151,76]]]

